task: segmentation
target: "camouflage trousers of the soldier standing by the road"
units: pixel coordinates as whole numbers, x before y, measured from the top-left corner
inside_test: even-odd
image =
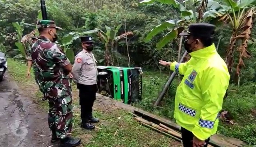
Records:
[[[63,80],[51,86],[45,93],[49,102],[49,128],[56,132],[58,138],[66,138],[72,130],[73,106],[72,89],[69,81]]]

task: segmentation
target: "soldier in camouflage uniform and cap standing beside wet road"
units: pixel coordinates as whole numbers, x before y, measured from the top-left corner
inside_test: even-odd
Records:
[[[69,137],[72,130],[73,107],[69,73],[72,65],[63,50],[54,42],[57,27],[54,21],[37,22],[40,36],[32,47],[32,60],[39,71],[40,88],[49,102],[48,123],[52,142],[60,139],[60,147],[75,147],[80,139]]]

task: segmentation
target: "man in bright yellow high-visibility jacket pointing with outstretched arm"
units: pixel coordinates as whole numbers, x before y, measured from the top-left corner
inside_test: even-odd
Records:
[[[207,147],[218,127],[218,116],[229,85],[226,63],[217,53],[212,35],[215,26],[196,23],[189,26],[184,48],[187,63],[159,61],[184,75],[175,95],[174,118],[181,126],[184,147]]]

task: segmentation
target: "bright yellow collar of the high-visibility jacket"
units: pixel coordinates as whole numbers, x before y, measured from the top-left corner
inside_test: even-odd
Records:
[[[214,54],[216,54],[216,48],[214,43],[208,47],[205,47],[203,49],[199,49],[195,52],[191,52],[189,53],[189,55],[193,58],[208,58],[209,56],[212,56]]]

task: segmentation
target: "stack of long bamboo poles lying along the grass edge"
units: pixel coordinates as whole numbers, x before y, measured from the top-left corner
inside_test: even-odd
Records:
[[[134,113],[131,113],[133,116],[134,116],[134,119],[139,121],[142,125],[148,127],[148,128],[151,128],[152,130],[155,130],[155,131],[158,131],[166,136],[169,136],[171,138],[173,138],[174,140],[176,141],[179,141],[179,142],[182,142],[182,137],[181,137],[181,134],[180,132],[177,132],[165,125],[163,125],[162,123],[159,123],[158,125],[156,123],[153,123],[153,122],[150,122],[146,119],[143,119],[139,116],[137,116],[136,114]],[[208,145],[208,147],[213,147],[211,145]]]

